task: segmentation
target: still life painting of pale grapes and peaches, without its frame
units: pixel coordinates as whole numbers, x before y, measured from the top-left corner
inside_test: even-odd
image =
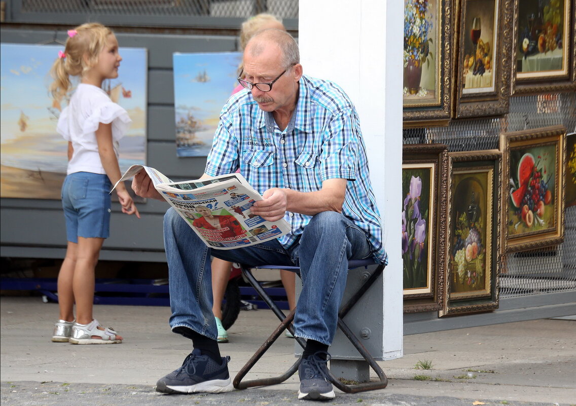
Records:
[[[490,292],[491,170],[453,174],[450,210],[450,297],[470,297]]]

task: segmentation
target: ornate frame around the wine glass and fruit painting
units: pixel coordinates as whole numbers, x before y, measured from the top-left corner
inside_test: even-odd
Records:
[[[467,6],[472,2],[486,2],[487,0],[456,0],[456,16],[454,21],[454,118],[484,117],[504,115],[510,105],[510,80],[512,36],[513,36],[513,0],[494,0],[494,39],[496,42],[494,59],[491,63],[494,88],[486,91],[478,90],[474,93],[464,92],[464,44],[467,39],[465,21],[467,21]],[[494,44],[492,44],[494,47]],[[482,89],[482,88],[479,88]]]

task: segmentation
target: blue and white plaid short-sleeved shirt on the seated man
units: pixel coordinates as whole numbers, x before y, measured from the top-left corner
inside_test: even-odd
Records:
[[[388,263],[358,115],[338,85],[302,76],[298,103],[284,131],[250,92],[230,97],[220,113],[206,173],[218,176],[237,169],[260,194],[273,187],[312,192],[324,180],[347,179],[342,214],[365,231],[377,263]],[[285,248],[293,245],[310,218],[287,212],[292,231],[279,242]]]

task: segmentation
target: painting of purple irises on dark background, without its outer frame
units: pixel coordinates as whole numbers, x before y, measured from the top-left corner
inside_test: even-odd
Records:
[[[434,238],[431,218],[434,198],[434,166],[403,165],[402,191],[402,259],[404,294],[430,292],[431,240]]]

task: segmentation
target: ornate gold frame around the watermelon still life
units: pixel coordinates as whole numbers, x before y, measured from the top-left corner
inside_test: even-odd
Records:
[[[511,154],[513,151],[528,152],[530,149],[537,147],[553,146],[555,150],[555,182],[552,192],[552,199],[554,199],[555,207],[554,214],[551,217],[554,222],[553,225],[545,227],[538,225],[536,221],[533,226],[522,227],[521,232],[516,234],[510,233],[510,227],[514,227],[516,220],[513,218],[511,211],[514,205],[511,203],[510,193],[503,193],[503,221],[502,221],[502,236],[505,252],[526,251],[529,249],[544,248],[547,246],[560,244],[564,240],[564,208],[566,201],[564,193],[566,192],[566,128],[562,126],[536,128],[533,130],[523,130],[514,132],[505,132],[501,134],[500,149],[503,153],[503,176],[502,188],[509,191],[510,179],[514,181],[517,177],[514,175],[510,167]],[[535,157],[539,159],[538,157]],[[548,172],[551,168],[548,166]],[[523,206],[523,205],[522,205]],[[523,207],[520,207],[522,210]],[[533,214],[534,216],[534,214]],[[524,220],[523,220],[524,221]],[[520,222],[518,222],[520,223]],[[534,228],[533,230],[532,227]],[[524,230],[527,228],[528,230]]]

